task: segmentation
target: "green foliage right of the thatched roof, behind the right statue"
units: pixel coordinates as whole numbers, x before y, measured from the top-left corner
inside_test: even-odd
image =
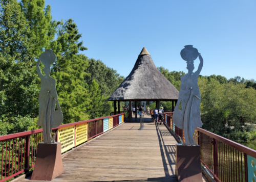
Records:
[[[184,72],[160,72],[179,89]],[[256,85],[240,76],[227,80],[221,75],[199,76],[203,128],[234,141],[256,139]]]

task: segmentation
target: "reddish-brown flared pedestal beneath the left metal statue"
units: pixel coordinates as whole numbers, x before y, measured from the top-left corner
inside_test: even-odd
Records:
[[[53,180],[64,172],[61,144],[39,143],[37,146],[36,163],[31,180]]]

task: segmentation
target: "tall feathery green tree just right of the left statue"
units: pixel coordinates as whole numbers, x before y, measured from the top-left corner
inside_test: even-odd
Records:
[[[81,34],[72,19],[57,22],[57,39],[51,43],[57,56],[52,76],[57,80],[56,89],[63,110],[64,123],[88,119],[86,106],[90,102],[88,86],[84,83],[88,66],[86,57],[78,51],[87,48],[79,41]]]

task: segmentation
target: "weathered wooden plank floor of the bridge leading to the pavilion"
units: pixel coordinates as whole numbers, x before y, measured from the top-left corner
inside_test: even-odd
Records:
[[[177,181],[176,140],[165,126],[144,125],[126,122],[73,151],[53,181]]]

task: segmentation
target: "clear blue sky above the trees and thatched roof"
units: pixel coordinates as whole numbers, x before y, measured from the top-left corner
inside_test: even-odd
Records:
[[[256,80],[255,0],[88,0],[46,1],[56,20],[72,18],[82,33],[83,54],[123,76],[143,47],[156,64],[186,70],[180,57],[194,45],[204,59],[202,75]],[[199,60],[195,61],[195,68]]]

